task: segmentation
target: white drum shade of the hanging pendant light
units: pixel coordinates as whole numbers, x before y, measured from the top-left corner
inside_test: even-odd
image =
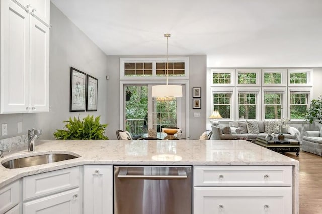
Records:
[[[152,86],[152,97],[182,97],[180,85],[155,85]]]

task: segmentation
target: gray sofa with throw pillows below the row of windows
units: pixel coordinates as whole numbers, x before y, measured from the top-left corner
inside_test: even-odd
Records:
[[[258,132],[255,132],[256,134],[252,132],[249,133],[246,122],[234,121],[234,122],[230,122],[229,126],[212,125],[211,128],[213,133],[213,139],[214,140],[231,140],[231,139],[244,139],[244,140],[254,139],[255,140],[257,137],[266,137],[268,135],[266,131],[269,131],[269,127],[265,128],[265,125],[269,126],[270,125],[269,122],[273,122],[273,121],[265,121],[265,122],[253,121],[253,123],[257,123],[257,126],[258,126]],[[276,124],[272,124],[270,126],[275,126],[275,125]],[[284,132],[285,138],[300,140],[300,132],[294,127],[289,127],[288,129],[284,129],[283,132]]]

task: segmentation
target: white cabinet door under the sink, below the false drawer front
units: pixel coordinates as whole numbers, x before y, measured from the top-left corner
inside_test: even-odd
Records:
[[[82,198],[79,188],[25,202],[24,214],[80,214]]]

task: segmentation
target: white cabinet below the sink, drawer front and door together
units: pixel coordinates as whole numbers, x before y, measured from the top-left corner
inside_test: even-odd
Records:
[[[82,167],[23,178],[23,214],[81,214]]]

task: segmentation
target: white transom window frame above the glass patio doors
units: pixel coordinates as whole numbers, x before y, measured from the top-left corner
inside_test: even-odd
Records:
[[[146,77],[128,77],[124,75],[124,63],[152,63],[152,76]],[[156,76],[156,63],[166,62],[166,57],[120,57],[120,80],[166,80],[166,77]],[[189,80],[189,57],[169,57],[168,62],[185,63],[185,76],[169,76],[172,80]]]

